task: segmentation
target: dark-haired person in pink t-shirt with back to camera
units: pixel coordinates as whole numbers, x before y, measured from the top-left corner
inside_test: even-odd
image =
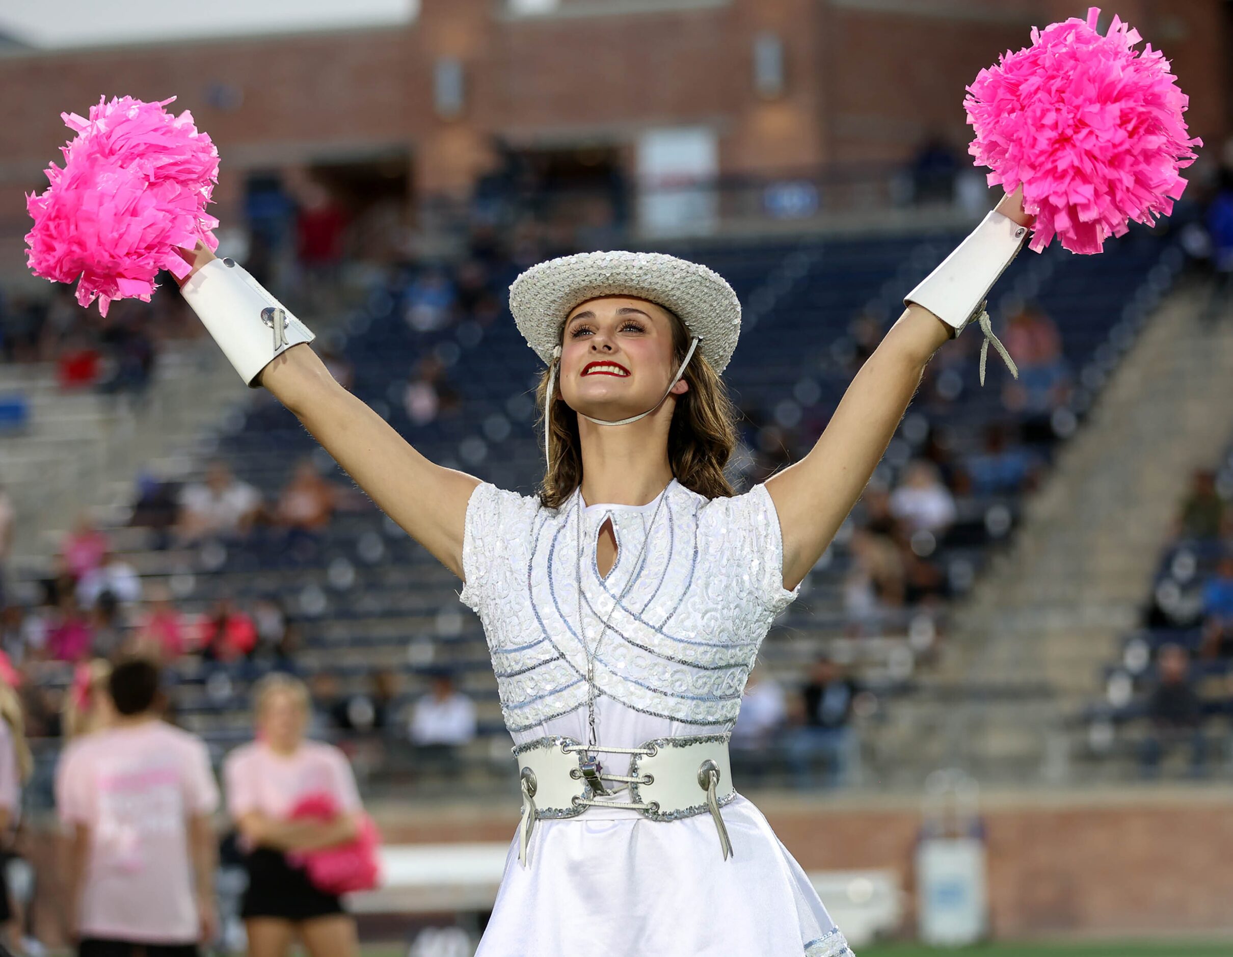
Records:
[[[160,720],[152,661],[121,661],[107,691],[111,726],[73,741],[55,771],[78,957],[196,957],[215,930],[210,757]]]

